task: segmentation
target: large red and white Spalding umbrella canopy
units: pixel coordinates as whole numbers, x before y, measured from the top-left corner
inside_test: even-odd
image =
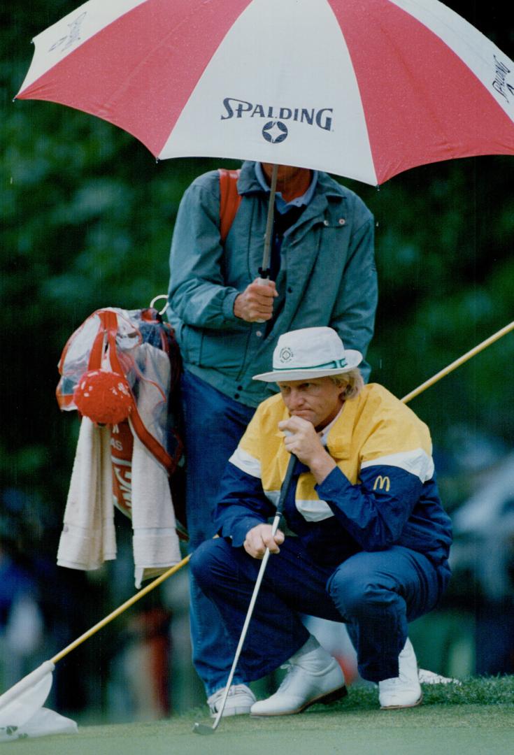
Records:
[[[89,0],[34,39],[17,97],[217,156],[380,184],[514,154],[514,63],[436,0]]]

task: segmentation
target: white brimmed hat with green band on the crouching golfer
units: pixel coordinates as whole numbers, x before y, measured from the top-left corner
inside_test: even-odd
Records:
[[[360,351],[345,349],[333,328],[301,328],[279,337],[272,372],[254,375],[266,383],[304,380],[349,372],[362,362]]]

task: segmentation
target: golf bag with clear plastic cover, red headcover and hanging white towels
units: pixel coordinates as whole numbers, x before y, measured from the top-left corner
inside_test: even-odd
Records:
[[[132,520],[137,586],[180,560],[180,368],[174,331],[154,309],[97,310],[69,337],[57,401],[82,421],[60,565],[96,569],[115,558],[112,504]]]

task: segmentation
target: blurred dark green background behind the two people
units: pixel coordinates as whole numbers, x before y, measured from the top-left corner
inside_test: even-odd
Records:
[[[514,58],[512,14],[503,3],[447,5]],[[30,652],[18,664],[3,654],[5,686],[134,591],[130,529],[122,518],[114,565],[92,575],[54,565],[78,430],[75,415],[60,414],[54,396],[63,346],[97,308],[146,307],[165,293],[183,191],[204,171],[236,165],[157,164],[134,137],[92,116],[52,103],[13,103],[32,57],[30,40],[74,7],[69,0],[17,3],[2,10],[0,26],[0,569],[3,557],[4,567],[9,559],[32,579],[41,623],[39,644],[27,641]],[[512,321],[513,167],[514,159],[502,156],[444,162],[401,174],[380,190],[337,179],[362,196],[377,220],[380,303],[368,359],[372,379],[398,396]],[[461,510],[482,486],[491,488],[500,470],[507,480],[499,503],[484,497],[485,509],[491,507],[487,532],[457,528],[456,576],[445,604],[413,627],[420,661],[442,673],[514,672],[513,356],[509,334],[412,402],[432,430],[448,511]],[[110,719],[155,713],[138,707],[137,693],[129,695],[123,681],[125,656],[132,649],[138,658],[137,649],[155,637],[173,667],[162,680],[162,712],[202,700],[189,664],[184,579],[146,600],[143,618],[123,617],[63,661],[53,692],[60,712]],[[2,642],[8,596],[4,603],[0,597]],[[483,650],[487,642],[491,652]],[[135,669],[144,667],[143,655],[132,659]]]

